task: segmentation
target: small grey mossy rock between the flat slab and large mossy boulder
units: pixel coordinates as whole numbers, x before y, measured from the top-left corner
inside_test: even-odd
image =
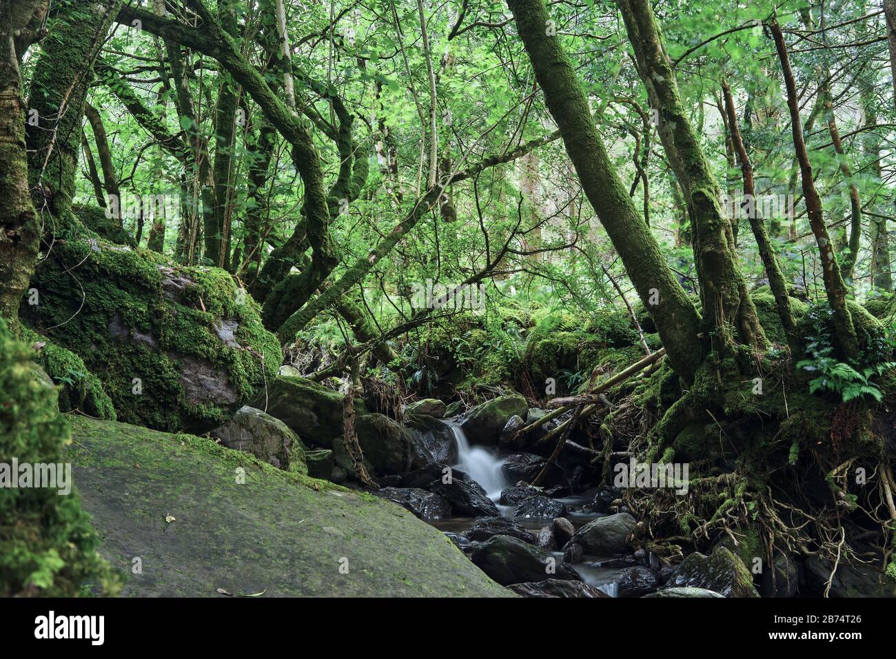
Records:
[[[292,429],[254,407],[244,405],[233,419],[211,430],[211,437],[237,451],[246,451],[278,469],[308,473],[305,447]]]

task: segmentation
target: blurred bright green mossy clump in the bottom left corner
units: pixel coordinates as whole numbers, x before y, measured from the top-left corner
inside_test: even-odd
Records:
[[[35,377],[32,357],[0,318],[0,596],[73,597],[85,585],[115,594],[90,516],[66,473],[68,425],[54,388]],[[52,465],[55,478],[42,487],[14,487],[25,484],[22,465],[36,474],[38,464]]]

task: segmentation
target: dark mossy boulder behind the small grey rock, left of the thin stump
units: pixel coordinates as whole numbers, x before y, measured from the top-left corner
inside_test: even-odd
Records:
[[[308,446],[332,448],[342,436],[342,395],[304,377],[277,377],[249,404],[286,423]],[[355,412],[365,412],[362,401]]]

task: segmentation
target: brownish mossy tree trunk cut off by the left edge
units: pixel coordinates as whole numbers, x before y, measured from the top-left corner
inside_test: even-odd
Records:
[[[26,113],[12,5],[13,0],[0,0],[0,316],[15,320],[34,270],[40,237],[28,187]]]

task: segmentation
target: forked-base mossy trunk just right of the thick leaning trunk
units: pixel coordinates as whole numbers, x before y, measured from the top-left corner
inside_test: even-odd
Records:
[[[764,347],[768,342],[737,264],[731,222],[719,204],[719,183],[682,105],[675,72],[650,2],[620,0],[618,4],[650,107],[659,118],[660,141],[692,209],[694,262],[700,280],[703,319],[713,333],[713,347],[730,353],[737,339]]]

